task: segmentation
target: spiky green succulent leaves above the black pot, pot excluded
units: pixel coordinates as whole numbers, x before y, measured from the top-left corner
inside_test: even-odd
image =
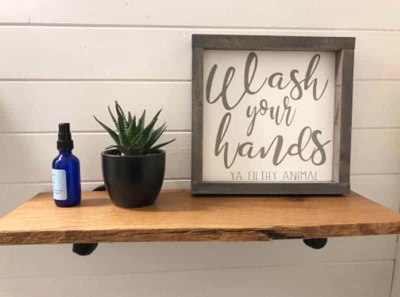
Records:
[[[157,121],[158,115],[161,109],[156,113],[150,123],[145,126],[144,118],[146,116],[146,109],[143,111],[142,115],[136,123],[136,115],[132,117],[130,111],[128,116],[125,116],[121,106],[118,101],[115,101],[115,111],[117,117],[111,112],[110,106],[108,106],[108,112],[111,115],[112,121],[117,129],[116,133],[113,129],[105,125],[103,122],[94,117],[94,119],[110,134],[111,138],[116,144],[107,146],[105,149],[118,148],[124,155],[143,155],[149,153],[157,152],[158,148],[171,143],[175,139],[155,144],[155,142],[160,138],[162,133],[166,129],[165,122],[157,129],[153,129],[154,124]],[[154,145],[154,146],[153,146]]]

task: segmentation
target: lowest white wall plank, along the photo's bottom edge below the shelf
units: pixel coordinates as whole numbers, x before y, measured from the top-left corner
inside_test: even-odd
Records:
[[[0,279],[6,296],[389,297],[393,261]]]

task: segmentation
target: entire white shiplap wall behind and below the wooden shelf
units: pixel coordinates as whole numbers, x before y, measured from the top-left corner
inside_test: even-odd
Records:
[[[352,188],[399,210],[399,15],[396,0],[0,1],[0,215],[51,189],[60,121],[71,122],[83,188],[101,182],[109,139],[91,115],[106,119],[115,99],[163,107],[177,138],[164,186],[188,187],[192,33],[356,36]],[[396,235],[321,250],[301,240],[70,249],[1,246],[0,296],[400,296]]]

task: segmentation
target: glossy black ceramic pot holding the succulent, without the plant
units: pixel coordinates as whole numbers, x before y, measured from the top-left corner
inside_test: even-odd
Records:
[[[112,202],[119,207],[151,205],[160,192],[165,172],[165,151],[147,155],[120,155],[118,149],[101,153],[103,178]]]

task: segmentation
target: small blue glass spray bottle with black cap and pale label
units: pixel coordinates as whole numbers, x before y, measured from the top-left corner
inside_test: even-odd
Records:
[[[52,162],[54,202],[60,207],[77,205],[80,203],[80,164],[72,154],[69,123],[58,124],[57,149],[59,154]]]

